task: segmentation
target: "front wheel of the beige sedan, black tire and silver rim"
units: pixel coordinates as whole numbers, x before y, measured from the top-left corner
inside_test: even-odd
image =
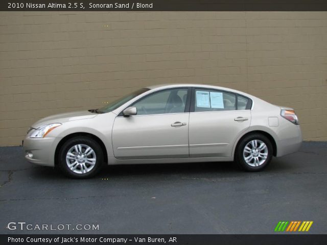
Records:
[[[103,165],[103,152],[97,141],[89,137],[68,139],[59,152],[59,165],[71,178],[85,179],[95,176]]]

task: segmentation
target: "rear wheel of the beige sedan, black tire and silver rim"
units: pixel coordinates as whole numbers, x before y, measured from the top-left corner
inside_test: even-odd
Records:
[[[236,149],[236,161],[247,171],[260,171],[271,161],[270,140],[262,134],[251,134],[241,140]]]

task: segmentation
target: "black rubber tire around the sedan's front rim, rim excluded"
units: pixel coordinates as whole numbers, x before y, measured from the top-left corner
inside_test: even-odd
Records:
[[[94,151],[94,152],[92,152],[92,156],[96,156],[94,158],[94,159],[96,159],[95,164],[88,164],[87,161],[86,162],[84,161],[86,166],[91,167],[92,165],[94,165],[86,173],[83,173],[83,171],[85,171],[85,168],[81,167],[82,164],[84,164],[84,163],[77,163],[77,160],[76,160],[76,164],[80,165],[80,166],[77,166],[76,171],[81,171],[82,173],[75,173],[71,168],[68,167],[68,164],[66,162],[66,155],[67,155],[68,151],[71,150],[72,148],[74,148],[74,146],[78,145],[78,144],[89,146]],[[86,146],[84,146],[84,147],[86,148]],[[85,148],[82,148],[82,152],[83,152],[83,150],[85,152]],[[95,155],[93,155],[93,154],[95,154]],[[68,176],[70,178],[74,178],[74,179],[87,179],[87,178],[94,177],[96,174],[99,173],[99,171],[101,170],[101,168],[104,164],[103,151],[102,151],[99,143],[96,140],[94,140],[90,137],[85,137],[85,136],[77,136],[77,137],[68,139],[61,146],[58,159],[59,159],[59,166],[60,166],[60,169],[62,170],[62,173],[65,174],[66,176]],[[85,159],[87,159],[87,157]],[[74,161],[74,160],[71,160],[71,161]]]

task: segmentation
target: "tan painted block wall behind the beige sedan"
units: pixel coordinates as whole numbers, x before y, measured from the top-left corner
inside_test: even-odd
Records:
[[[0,145],[41,117],[151,84],[205,83],[295,108],[327,140],[327,12],[1,12]]]

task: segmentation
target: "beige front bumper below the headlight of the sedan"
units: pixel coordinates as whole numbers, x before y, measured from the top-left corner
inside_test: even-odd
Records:
[[[56,138],[30,138],[26,137],[22,142],[22,151],[25,159],[31,163],[54,166],[55,165],[55,147]]]

